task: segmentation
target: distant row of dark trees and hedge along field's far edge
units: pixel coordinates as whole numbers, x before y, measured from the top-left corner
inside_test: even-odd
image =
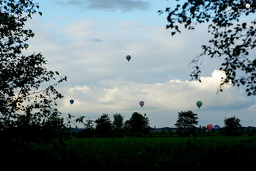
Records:
[[[84,117],[75,119],[80,122],[84,128],[70,128],[71,135],[78,138],[92,137],[124,137],[124,136],[149,136],[149,137],[170,137],[170,136],[237,136],[237,135],[256,135],[256,128],[244,128],[240,125],[240,119],[236,117],[225,118],[224,127],[208,130],[207,128],[197,128],[197,115],[192,111],[181,111],[178,113],[178,120],[175,128],[165,128],[156,131],[150,128],[149,118],[146,114],[141,115],[134,112],[129,120],[124,121],[121,114],[113,115],[113,121],[109,115],[102,114],[95,121],[88,119],[83,121]],[[193,120],[193,121],[192,121]]]

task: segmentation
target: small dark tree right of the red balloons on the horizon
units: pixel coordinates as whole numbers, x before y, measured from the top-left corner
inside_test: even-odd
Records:
[[[231,118],[225,118],[224,119],[224,129],[226,135],[240,135],[239,130],[242,128],[242,125],[240,125],[240,119],[234,117]]]

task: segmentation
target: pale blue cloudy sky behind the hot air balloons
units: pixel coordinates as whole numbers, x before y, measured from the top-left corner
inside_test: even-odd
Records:
[[[120,113],[147,114],[150,126],[175,127],[178,112],[198,114],[198,125],[224,125],[235,116],[243,126],[256,126],[256,100],[238,87],[217,93],[221,60],[202,60],[202,83],[192,80],[189,63],[211,35],[207,24],[182,29],[171,36],[166,0],[43,0],[43,15],[33,15],[27,27],[36,36],[26,53],[42,53],[47,69],[67,76],[57,90],[63,115],[95,120]],[[244,19],[247,21],[247,18]],[[254,53],[252,53],[254,54]],[[126,60],[126,55],[131,60]],[[255,56],[254,56],[255,57]],[[74,104],[70,100],[74,99]],[[139,102],[144,101],[141,108]],[[196,101],[202,101],[197,108]]]

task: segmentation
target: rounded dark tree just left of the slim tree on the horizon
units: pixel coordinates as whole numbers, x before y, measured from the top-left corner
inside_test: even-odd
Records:
[[[112,123],[110,121],[109,115],[102,114],[100,118],[95,120],[96,132],[100,136],[109,136],[112,131]]]

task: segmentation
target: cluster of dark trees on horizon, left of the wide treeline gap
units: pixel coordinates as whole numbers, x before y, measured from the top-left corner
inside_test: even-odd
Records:
[[[102,114],[95,121],[78,118],[76,122],[82,123],[84,128],[79,132],[71,130],[71,135],[75,137],[124,137],[124,136],[144,136],[149,135],[150,122],[146,115],[133,112],[129,120],[124,121],[123,115],[116,113],[113,121],[108,114]]]

